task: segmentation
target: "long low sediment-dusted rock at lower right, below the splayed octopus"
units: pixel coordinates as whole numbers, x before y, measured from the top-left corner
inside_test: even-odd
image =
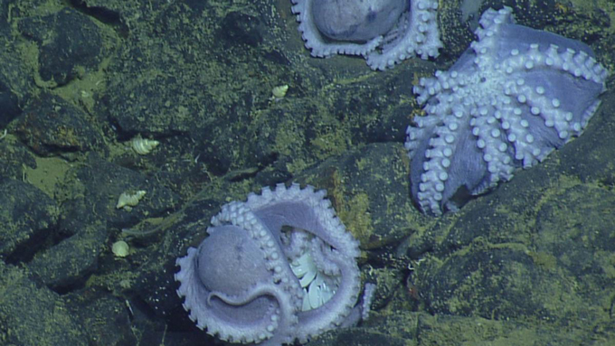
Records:
[[[477,240],[442,263],[422,263],[414,283],[431,313],[563,324],[600,320],[601,309],[577,291],[582,284],[554,269],[546,254]]]

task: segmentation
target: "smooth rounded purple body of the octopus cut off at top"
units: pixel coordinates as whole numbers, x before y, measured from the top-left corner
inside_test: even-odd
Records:
[[[366,42],[388,33],[408,9],[405,0],[314,0],[318,31],[336,41]]]

